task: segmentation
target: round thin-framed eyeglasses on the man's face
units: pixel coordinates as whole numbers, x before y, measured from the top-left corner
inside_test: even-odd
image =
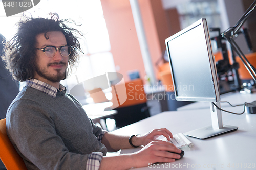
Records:
[[[55,46],[46,46],[46,47],[41,48],[41,49],[40,48],[36,48],[36,49],[37,50],[42,50],[47,57],[55,56],[57,50],[60,51],[60,54],[63,57],[68,57],[72,52],[72,48],[68,45],[61,46],[60,48],[56,48]]]

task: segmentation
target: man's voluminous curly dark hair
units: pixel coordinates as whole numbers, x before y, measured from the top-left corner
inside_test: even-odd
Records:
[[[70,28],[67,23],[74,23],[70,19],[61,19],[57,13],[50,13],[50,18],[33,18],[23,15],[17,23],[18,30],[14,37],[6,42],[2,59],[7,63],[6,68],[11,72],[12,77],[18,81],[32,79],[35,73],[36,60],[36,36],[44,34],[49,39],[47,32],[61,31],[71,46],[72,52],[69,56],[69,67],[72,70],[79,60],[81,51],[78,35],[82,35],[77,29]],[[66,78],[66,76],[65,76]]]

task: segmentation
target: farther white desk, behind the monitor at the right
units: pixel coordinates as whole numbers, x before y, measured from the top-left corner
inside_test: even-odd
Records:
[[[244,102],[253,102],[256,100],[256,93],[253,94],[241,94],[239,92],[230,92],[221,95],[221,101],[228,101],[232,105],[244,104]],[[221,107],[229,107],[228,103],[221,103]],[[185,105],[177,108],[180,110],[191,110],[191,109],[206,109],[210,108],[209,102],[195,102],[193,104]]]

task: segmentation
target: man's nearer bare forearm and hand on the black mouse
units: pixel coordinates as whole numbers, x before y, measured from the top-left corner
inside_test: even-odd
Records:
[[[175,145],[166,141],[152,141],[143,147],[140,151],[132,154],[121,154],[117,156],[103,157],[100,163],[100,169],[130,169],[132,167],[145,167],[150,163],[174,162],[179,159],[181,150]]]

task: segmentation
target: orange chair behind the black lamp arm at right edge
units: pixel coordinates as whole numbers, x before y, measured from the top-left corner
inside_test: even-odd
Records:
[[[256,67],[256,52],[246,54],[245,57],[251,63],[251,65]],[[239,73],[240,79],[241,80],[251,80],[252,79],[251,75],[249,74],[248,70],[245,68],[243,62],[240,60],[240,58],[238,56],[236,57],[236,61],[239,63],[238,73]]]

